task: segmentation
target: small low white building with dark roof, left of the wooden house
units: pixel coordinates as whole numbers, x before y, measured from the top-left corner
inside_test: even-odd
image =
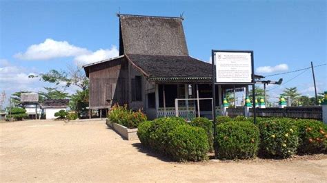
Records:
[[[55,119],[57,117],[54,114],[60,110],[67,110],[69,100],[68,99],[48,99],[44,100],[41,108],[44,109],[46,119]]]

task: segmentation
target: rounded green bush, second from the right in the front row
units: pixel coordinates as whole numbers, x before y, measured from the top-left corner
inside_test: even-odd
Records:
[[[297,127],[290,118],[268,118],[257,123],[260,130],[260,153],[279,158],[294,155],[299,146]]]

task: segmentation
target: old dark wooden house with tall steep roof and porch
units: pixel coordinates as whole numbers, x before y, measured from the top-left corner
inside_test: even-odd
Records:
[[[90,78],[90,109],[127,104],[152,119],[175,116],[176,98],[212,98],[212,65],[189,56],[182,21],[119,14],[119,56],[83,66]],[[232,86],[216,87],[219,106],[224,88]],[[179,116],[212,115],[210,99],[178,105]]]

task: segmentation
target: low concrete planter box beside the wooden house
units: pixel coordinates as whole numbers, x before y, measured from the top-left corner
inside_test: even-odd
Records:
[[[128,129],[123,125],[119,125],[115,122],[110,122],[110,120],[106,119],[106,125],[111,129],[115,130],[123,139],[126,140],[138,140],[137,137],[137,129]]]

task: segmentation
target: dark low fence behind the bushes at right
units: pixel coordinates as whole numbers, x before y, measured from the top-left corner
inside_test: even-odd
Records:
[[[243,116],[244,108],[228,108],[228,116],[234,118],[235,116]],[[260,117],[286,117],[286,118],[302,118],[322,120],[322,107],[268,107],[264,109],[256,108],[256,114]],[[250,116],[253,116],[253,109],[250,109]]]

